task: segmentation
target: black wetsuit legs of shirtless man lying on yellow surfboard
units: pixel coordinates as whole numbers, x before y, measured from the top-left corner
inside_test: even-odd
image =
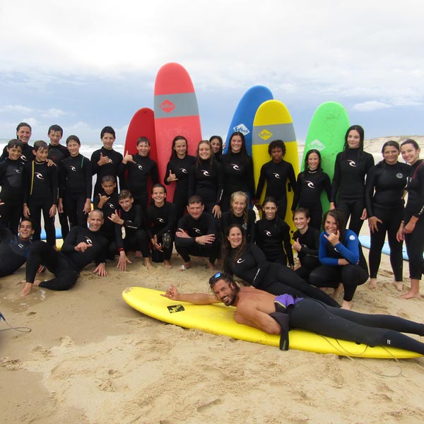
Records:
[[[290,327],[369,346],[389,346],[424,355],[424,343],[401,334],[424,336],[424,324],[392,315],[360,314],[303,299],[290,310]]]

